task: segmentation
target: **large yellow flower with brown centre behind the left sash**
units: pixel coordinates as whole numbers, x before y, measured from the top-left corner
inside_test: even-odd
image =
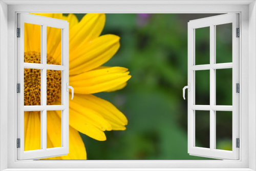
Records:
[[[131,78],[126,68],[103,67],[119,49],[119,37],[100,36],[105,14],[86,14],[80,22],[74,14],[37,14],[68,20],[70,24],[70,151],[53,160],[85,160],[86,148],[78,132],[99,141],[104,131],[125,130],[126,117],[109,101],[93,93],[122,89]],[[47,63],[61,63],[60,29],[47,28]],[[25,24],[25,62],[40,63],[40,26]],[[24,105],[40,105],[40,70],[25,69]],[[61,71],[47,72],[47,104],[61,104]],[[47,112],[47,148],[61,146],[61,112]],[[40,112],[25,112],[25,151],[40,149]]]

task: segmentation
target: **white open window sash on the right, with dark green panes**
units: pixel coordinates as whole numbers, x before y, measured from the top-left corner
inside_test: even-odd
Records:
[[[236,138],[239,138],[239,93],[236,93],[236,83],[239,83],[239,38],[236,28],[239,28],[239,14],[223,14],[202,19],[191,20],[188,23],[188,153],[194,156],[239,159],[239,148]],[[216,63],[216,25],[232,23],[232,62]],[[210,27],[210,64],[195,63],[195,29]],[[216,69],[232,68],[232,106],[216,105]],[[210,71],[210,105],[195,105],[195,71]],[[224,86],[224,85],[223,85]],[[197,147],[195,144],[196,110],[210,111],[210,148]],[[216,111],[232,111],[232,151],[216,149]]]

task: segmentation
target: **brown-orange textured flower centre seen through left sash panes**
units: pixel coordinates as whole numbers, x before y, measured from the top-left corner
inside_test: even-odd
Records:
[[[41,63],[40,52],[25,52],[24,62]],[[47,64],[59,65],[47,54]],[[47,70],[47,105],[61,97],[61,71]],[[24,69],[24,105],[41,105],[41,70]]]

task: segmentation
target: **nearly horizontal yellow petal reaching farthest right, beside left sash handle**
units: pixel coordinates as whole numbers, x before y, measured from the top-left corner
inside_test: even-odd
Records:
[[[130,78],[126,68],[110,67],[72,76],[70,85],[75,89],[75,93],[93,94],[116,88]]]

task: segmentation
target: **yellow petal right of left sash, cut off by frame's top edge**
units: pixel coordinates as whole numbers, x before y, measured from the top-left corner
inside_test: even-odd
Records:
[[[98,37],[105,25],[105,14],[86,14],[80,22],[70,29],[70,51],[79,48],[84,42]]]

